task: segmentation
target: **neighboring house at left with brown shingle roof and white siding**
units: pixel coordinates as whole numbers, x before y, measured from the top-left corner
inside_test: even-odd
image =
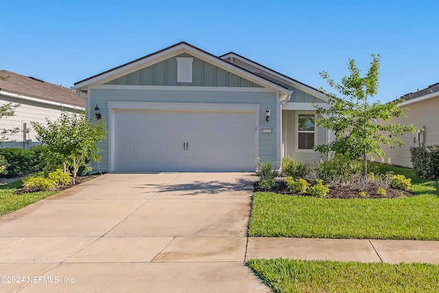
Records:
[[[29,148],[38,144],[31,121],[45,124],[46,117],[50,120],[60,117],[62,109],[84,110],[84,99],[69,88],[6,70],[0,70],[0,75],[7,78],[0,80],[0,104],[21,104],[15,108],[14,116],[0,121],[1,129],[19,128],[19,132],[7,136],[2,148]]]

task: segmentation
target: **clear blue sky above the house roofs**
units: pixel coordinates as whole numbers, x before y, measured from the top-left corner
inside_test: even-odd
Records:
[[[182,40],[315,88],[380,54],[388,102],[439,82],[437,1],[5,1],[0,69],[73,86]]]

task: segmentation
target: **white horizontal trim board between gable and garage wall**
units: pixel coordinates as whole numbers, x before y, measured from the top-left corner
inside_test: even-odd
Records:
[[[115,84],[100,84],[90,86],[90,89],[110,89],[110,90],[134,90],[134,91],[243,91],[272,93],[273,89],[266,88],[244,88],[244,87],[227,87],[227,86],[127,86]],[[276,91],[277,93],[277,91]]]

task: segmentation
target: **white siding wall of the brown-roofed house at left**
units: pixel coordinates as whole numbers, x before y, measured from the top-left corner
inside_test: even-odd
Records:
[[[16,99],[14,97],[1,96],[0,105],[12,102],[20,104],[18,108],[14,110],[14,116],[3,117],[0,121],[0,128],[12,129],[19,128],[19,132],[14,135],[8,135],[8,141],[5,142],[2,147],[23,148],[23,125],[26,124],[29,132],[26,133],[26,139],[32,142],[36,141],[36,131],[30,124],[31,121],[38,122],[43,125],[47,125],[46,118],[50,121],[55,121],[61,115],[61,108],[59,106],[40,104],[37,102],[27,101],[25,99]],[[64,109],[67,112],[71,112],[71,109]],[[29,146],[29,145],[28,145]]]

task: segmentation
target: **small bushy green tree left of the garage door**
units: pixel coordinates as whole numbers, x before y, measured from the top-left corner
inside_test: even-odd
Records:
[[[73,184],[80,167],[87,167],[90,160],[99,161],[101,152],[96,143],[105,138],[107,131],[103,120],[88,121],[86,115],[62,111],[56,121],[46,119],[47,126],[31,122],[37,139],[45,143],[49,152],[61,159],[64,172],[71,169]]]

